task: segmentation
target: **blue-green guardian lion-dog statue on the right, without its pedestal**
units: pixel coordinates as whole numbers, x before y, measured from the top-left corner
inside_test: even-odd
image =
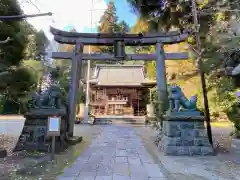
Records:
[[[183,94],[179,86],[168,87],[169,111],[198,111],[197,109],[197,95],[194,95],[188,100]]]

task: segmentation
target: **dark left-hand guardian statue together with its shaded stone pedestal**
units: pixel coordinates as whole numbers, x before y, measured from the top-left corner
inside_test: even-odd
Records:
[[[30,101],[29,111],[24,115],[26,120],[14,151],[51,150],[51,137],[47,136],[49,116],[61,117],[60,136],[56,137],[55,149],[67,148],[67,106],[63,104],[60,87],[52,85],[43,94],[35,94]]]

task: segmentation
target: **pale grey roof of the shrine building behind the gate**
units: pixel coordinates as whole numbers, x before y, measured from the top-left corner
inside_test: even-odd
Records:
[[[143,65],[96,65],[90,84],[99,86],[155,86],[146,78]]]

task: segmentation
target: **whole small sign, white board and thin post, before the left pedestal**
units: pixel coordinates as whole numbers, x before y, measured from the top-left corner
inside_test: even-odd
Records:
[[[48,117],[47,136],[52,137],[51,158],[54,159],[56,136],[60,136],[61,118],[56,116]]]

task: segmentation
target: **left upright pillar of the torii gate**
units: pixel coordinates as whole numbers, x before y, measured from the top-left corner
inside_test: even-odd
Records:
[[[79,80],[81,76],[82,69],[82,53],[83,53],[83,45],[77,44],[75,46],[74,56],[72,58],[72,68],[71,68],[71,85],[69,89],[69,129],[68,135],[69,137],[73,136],[74,122],[76,119],[76,102],[77,102],[77,93],[79,88]]]

